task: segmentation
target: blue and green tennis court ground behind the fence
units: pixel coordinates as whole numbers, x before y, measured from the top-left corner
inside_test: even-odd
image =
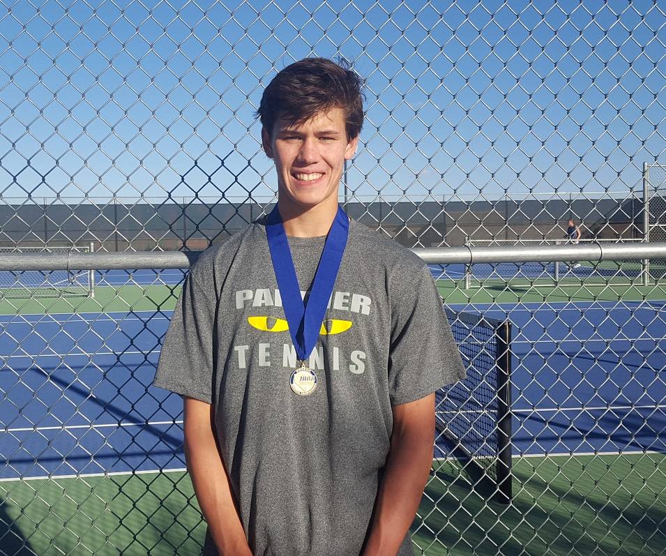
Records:
[[[16,299],[2,302],[13,313],[0,320],[5,538],[40,553],[77,543],[109,554],[197,550],[204,529],[183,472],[182,402],[151,386],[182,277],[107,271],[97,276],[95,299],[19,300],[23,311],[75,303],[68,313],[30,314],[8,310]],[[451,283],[439,284],[446,296]],[[120,303],[122,292],[136,310],[89,310]],[[552,553],[588,545],[598,554],[658,551],[663,523],[631,516],[666,511],[666,340],[658,339],[666,337],[666,300],[591,301],[580,292],[571,301],[515,303],[503,300],[506,290],[492,303],[469,303],[455,292],[454,312],[513,325],[513,499],[494,502],[483,473],[439,436],[416,546],[462,555],[503,542],[545,550],[557,540]]]

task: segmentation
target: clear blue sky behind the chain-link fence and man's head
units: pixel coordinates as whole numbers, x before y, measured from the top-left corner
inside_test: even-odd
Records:
[[[0,193],[272,195],[253,112],[314,55],[367,80],[364,199],[623,195],[666,163],[652,1],[3,0]]]

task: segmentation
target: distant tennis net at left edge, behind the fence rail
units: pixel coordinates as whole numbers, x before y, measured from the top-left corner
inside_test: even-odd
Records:
[[[85,246],[0,247],[0,254],[34,255],[44,253],[91,253]],[[95,271],[0,271],[0,297],[92,296]]]

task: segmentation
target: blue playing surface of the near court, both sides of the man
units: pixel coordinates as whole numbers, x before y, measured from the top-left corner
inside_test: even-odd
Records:
[[[514,456],[666,451],[665,302],[451,308],[513,322]],[[151,386],[170,316],[0,317],[0,478],[183,468],[181,398]]]

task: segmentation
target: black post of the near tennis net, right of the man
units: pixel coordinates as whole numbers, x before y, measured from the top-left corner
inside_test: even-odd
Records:
[[[511,323],[501,322],[497,335],[497,493],[495,500],[510,504],[513,499],[511,474]]]

